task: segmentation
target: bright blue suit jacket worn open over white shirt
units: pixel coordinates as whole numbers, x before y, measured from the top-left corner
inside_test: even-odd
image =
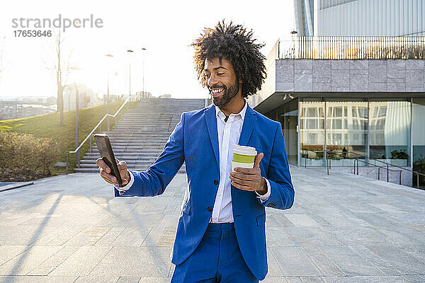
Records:
[[[234,229],[242,256],[258,279],[267,273],[266,212],[264,207],[288,209],[294,188],[288,168],[280,123],[246,108],[239,144],[254,146],[263,153],[261,175],[271,185],[270,198],[261,203],[255,192],[232,186]],[[164,151],[147,171],[132,171],[135,182],[120,197],[161,195],[186,161],[188,187],[176,231],[172,260],[181,264],[196,249],[207,229],[220,182],[217,119],[215,107],[185,112],[164,146]],[[118,197],[115,190],[115,197]]]

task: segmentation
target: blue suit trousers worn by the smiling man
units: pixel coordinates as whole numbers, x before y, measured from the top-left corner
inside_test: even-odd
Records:
[[[242,257],[233,223],[208,224],[199,246],[180,265],[171,283],[258,283]]]

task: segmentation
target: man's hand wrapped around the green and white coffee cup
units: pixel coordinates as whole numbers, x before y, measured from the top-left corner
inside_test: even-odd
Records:
[[[254,168],[234,168],[234,172],[230,173],[229,178],[232,180],[232,185],[239,190],[256,191],[260,195],[265,195],[267,192],[266,180],[261,176],[260,161],[264,154],[256,156]]]

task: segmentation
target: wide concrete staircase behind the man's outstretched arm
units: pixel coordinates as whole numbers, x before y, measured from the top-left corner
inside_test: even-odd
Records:
[[[111,139],[115,157],[126,161],[132,170],[146,170],[164,149],[171,132],[180,121],[182,112],[205,106],[203,99],[149,98],[142,99],[106,132]],[[80,161],[74,172],[98,172],[96,159],[98,148],[94,142],[92,151]],[[184,172],[184,164],[179,172]]]

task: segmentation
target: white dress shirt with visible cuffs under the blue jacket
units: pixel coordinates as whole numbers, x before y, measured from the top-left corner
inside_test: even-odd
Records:
[[[215,197],[214,207],[212,208],[212,223],[229,223],[233,222],[232,209],[232,192],[229,175],[232,172],[233,144],[239,144],[242,126],[244,125],[245,112],[248,103],[245,102],[244,108],[237,114],[230,114],[227,122],[225,122],[225,113],[217,106],[215,107],[215,115],[217,118],[218,148],[220,151],[220,183],[218,185],[217,195]],[[271,187],[268,180],[267,193],[258,195],[261,202],[266,202],[271,195]],[[115,187],[120,194],[128,190],[134,183],[134,177],[130,172],[130,182],[125,187]]]

